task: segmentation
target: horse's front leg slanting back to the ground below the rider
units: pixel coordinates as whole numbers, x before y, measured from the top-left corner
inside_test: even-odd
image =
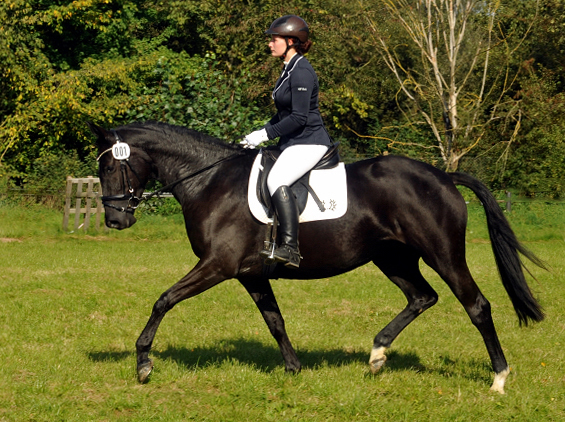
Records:
[[[271,334],[277,341],[288,372],[299,372],[300,361],[290,343],[284,319],[267,278],[240,278],[239,281],[253,298]]]

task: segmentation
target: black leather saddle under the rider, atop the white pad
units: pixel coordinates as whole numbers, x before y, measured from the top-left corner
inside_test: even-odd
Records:
[[[318,164],[316,164],[312,170],[323,170],[337,167],[340,161],[337,148],[338,145],[339,142],[330,146],[326,154],[320,159]],[[262,148],[261,152],[262,169],[259,171],[259,177],[257,180],[257,198],[259,199],[259,202],[261,202],[261,204],[263,204],[265,208],[268,209],[267,215],[269,217],[272,217],[274,214],[274,209],[271,204],[271,195],[269,193],[269,189],[267,188],[267,177],[269,176],[269,172],[273,168],[275,161],[277,161],[277,158],[281,154],[281,151],[276,147],[267,147]],[[320,201],[318,195],[316,195],[316,192],[314,192],[314,189],[312,189],[312,186],[310,186],[310,171],[300,179],[298,179],[294,184],[292,184],[292,186],[290,186],[290,189],[296,197],[299,214],[301,214],[302,211],[304,211],[304,208],[306,208],[308,194],[310,194],[314,199],[314,201],[320,208],[320,211],[325,211],[324,204],[322,203],[322,201]]]

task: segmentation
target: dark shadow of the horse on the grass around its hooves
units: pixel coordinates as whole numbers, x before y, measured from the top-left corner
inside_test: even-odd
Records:
[[[168,346],[164,350],[152,350],[151,355],[160,360],[176,362],[188,370],[220,366],[225,362],[239,362],[262,372],[272,372],[284,366],[282,356],[276,346],[249,339],[227,339],[214,347],[195,347],[193,349]],[[344,349],[299,350],[297,355],[303,369],[314,370],[320,367],[340,367],[357,363],[368,367],[369,360],[367,352]],[[126,359],[135,361],[135,352],[133,350],[131,352],[97,351],[88,353],[88,357],[94,362],[118,362]],[[465,360],[461,357],[451,358],[445,355],[439,358],[437,364],[427,367],[415,352],[394,350],[387,353],[387,362],[383,370],[391,372],[409,370],[445,377],[462,377],[487,383],[492,372],[487,361]],[[372,376],[369,371],[366,375]]]

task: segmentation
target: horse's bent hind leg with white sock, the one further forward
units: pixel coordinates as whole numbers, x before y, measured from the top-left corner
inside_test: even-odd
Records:
[[[422,312],[435,305],[438,299],[435,290],[420,272],[420,257],[405,247],[389,245],[373,262],[396,284],[406,296],[406,307],[375,337],[369,358],[371,372],[378,372],[386,361],[385,351],[400,332]]]

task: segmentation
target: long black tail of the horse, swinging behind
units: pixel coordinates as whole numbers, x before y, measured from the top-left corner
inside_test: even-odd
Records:
[[[483,204],[498,272],[514,305],[520,325],[528,325],[530,320],[534,322],[543,320],[543,310],[528,287],[522,269],[525,266],[518,252],[539,267],[546,268],[544,263],[518,242],[500,205],[484,184],[464,173],[449,173],[449,175],[456,185],[471,189]]]

